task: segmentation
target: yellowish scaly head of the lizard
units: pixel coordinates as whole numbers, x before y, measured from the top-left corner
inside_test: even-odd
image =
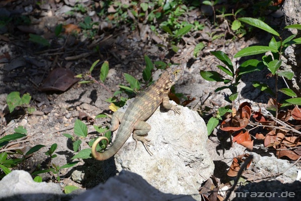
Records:
[[[168,77],[169,81],[166,82],[166,89],[170,89],[172,85],[176,83],[176,81],[181,77],[184,72],[183,65],[171,65],[168,69],[166,69],[162,76]],[[164,75],[165,74],[165,75]]]

